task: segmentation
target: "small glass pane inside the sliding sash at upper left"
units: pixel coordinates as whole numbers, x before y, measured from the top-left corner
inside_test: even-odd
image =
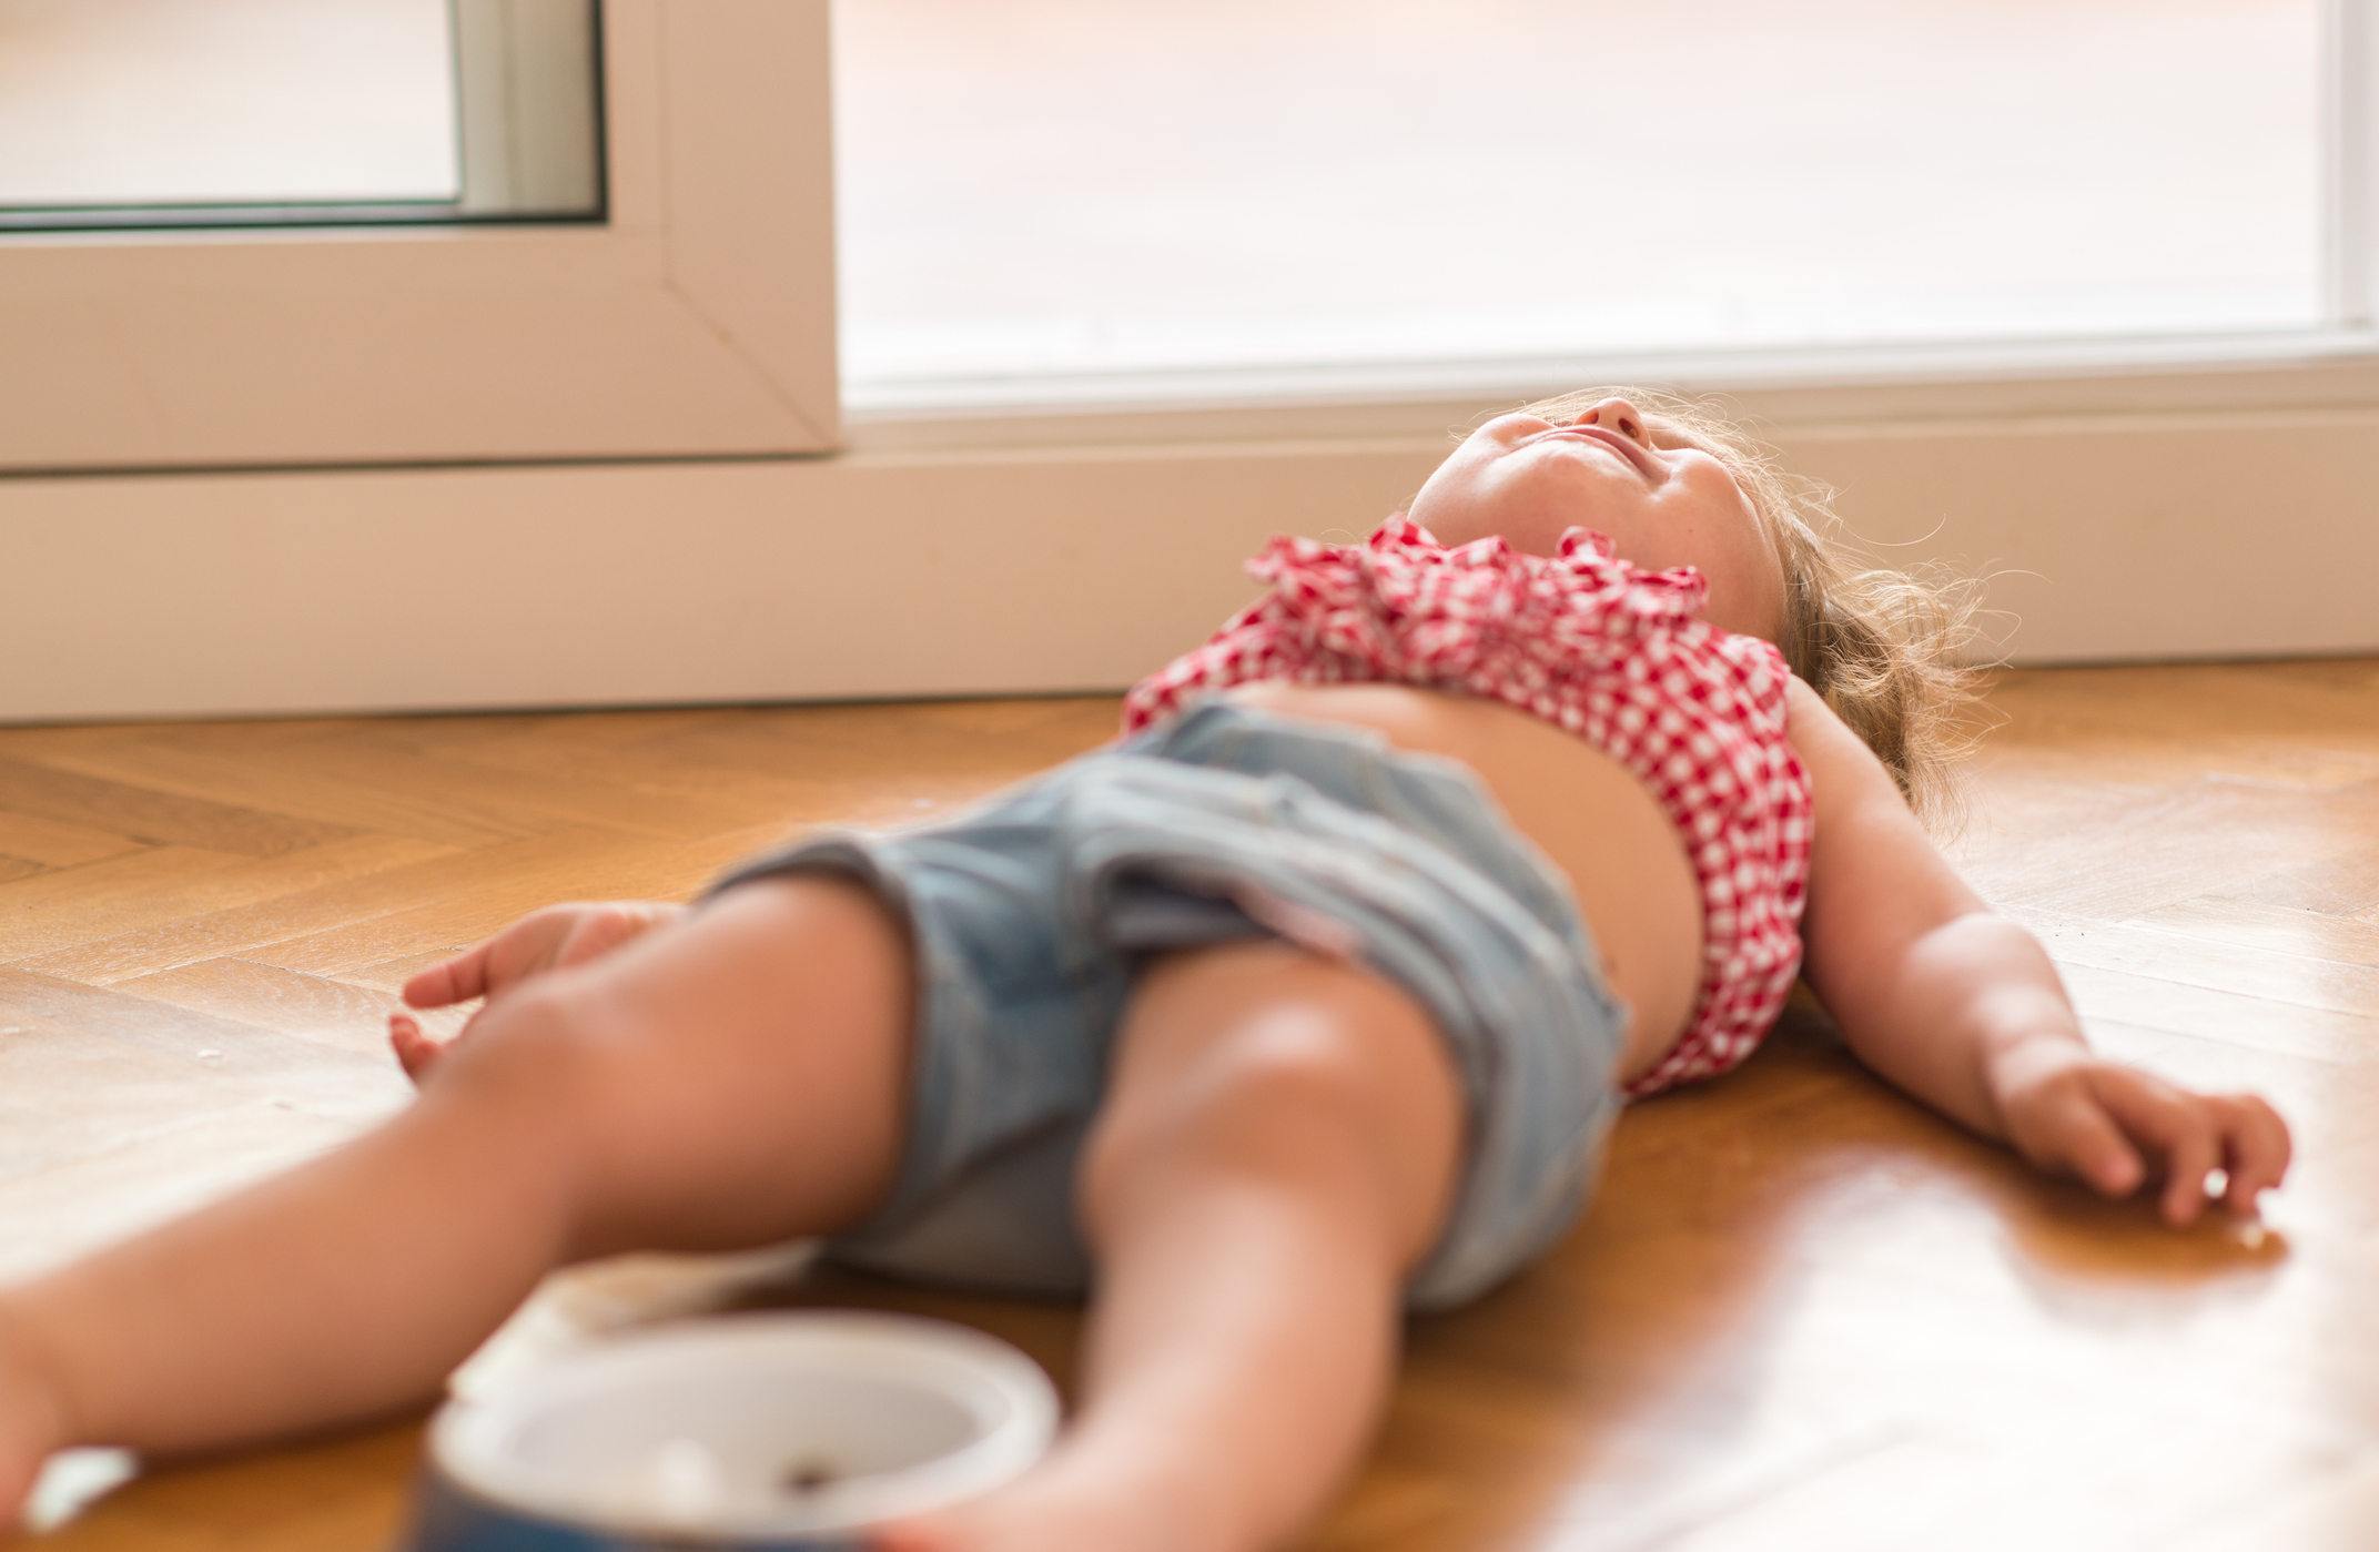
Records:
[[[592,19],[592,0],[0,0],[0,223],[600,214]]]

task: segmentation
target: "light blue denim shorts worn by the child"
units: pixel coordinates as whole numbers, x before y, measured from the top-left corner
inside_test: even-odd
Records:
[[[1587,1200],[1627,1008],[1577,906],[1463,765],[1368,730],[1206,701],[918,829],[818,832],[716,887],[854,877],[909,922],[906,1153],[835,1260],[1075,1295],[1073,1174],[1149,953],[1285,936],[1413,996],[1465,1098],[1463,1181],[1406,1305],[1465,1302]]]

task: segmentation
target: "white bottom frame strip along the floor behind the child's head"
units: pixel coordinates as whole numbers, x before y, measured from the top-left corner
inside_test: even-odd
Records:
[[[1803,425],[2015,661],[2379,651],[2379,411]],[[0,482],[0,720],[1118,689],[1442,437]]]

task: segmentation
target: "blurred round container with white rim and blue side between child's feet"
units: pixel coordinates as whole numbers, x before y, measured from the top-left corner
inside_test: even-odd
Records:
[[[659,1326],[450,1402],[409,1552],[859,1552],[975,1497],[1056,1433],[1016,1348],[895,1314]]]

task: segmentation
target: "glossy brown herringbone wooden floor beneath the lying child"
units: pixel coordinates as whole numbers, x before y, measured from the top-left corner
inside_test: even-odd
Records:
[[[2296,1127],[2267,1222],[2029,1176],[1822,1029],[1618,1129],[1561,1250],[1411,1331],[1306,1547],[2379,1542],[2379,663],[2022,673],[1960,856],[2094,1036]],[[1111,701],[0,730],[0,1276],[404,1103],[404,974],[535,903],[685,894],[787,825],[906,820],[1099,742]],[[785,1257],[559,1279],[469,1371],[704,1302],[1061,1307]],[[43,1547],[393,1535],[414,1424],[159,1469]]]

